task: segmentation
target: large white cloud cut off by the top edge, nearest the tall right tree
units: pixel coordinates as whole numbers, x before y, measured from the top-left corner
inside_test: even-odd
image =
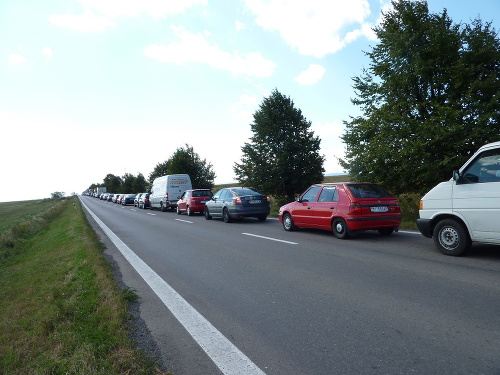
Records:
[[[244,0],[265,29],[278,31],[302,55],[335,53],[366,35],[368,0]],[[346,39],[346,29],[351,29]],[[359,29],[359,32],[356,30]]]

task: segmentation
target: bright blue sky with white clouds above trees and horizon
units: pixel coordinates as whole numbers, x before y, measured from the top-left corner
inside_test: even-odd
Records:
[[[499,0],[429,0],[500,30]],[[277,89],[344,172],[352,78],[369,66],[387,0],[0,0],[0,202],[146,178],[186,144],[216,173]]]

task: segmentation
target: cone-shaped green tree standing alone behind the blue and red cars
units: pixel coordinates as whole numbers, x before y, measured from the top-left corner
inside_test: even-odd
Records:
[[[290,97],[273,90],[253,118],[253,136],[241,148],[241,163],[233,167],[239,182],[283,203],[323,180],[320,139]]]

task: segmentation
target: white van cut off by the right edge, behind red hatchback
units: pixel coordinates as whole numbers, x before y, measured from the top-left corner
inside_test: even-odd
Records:
[[[472,242],[500,244],[500,142],[481,147],[425,194],[419,214],[418,229],[443,254],[461,255]]]

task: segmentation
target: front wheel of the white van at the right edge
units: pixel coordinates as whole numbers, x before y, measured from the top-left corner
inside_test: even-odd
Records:
[[[432,238],[441,253],[451,256],[462,255],[472,244],[464,227],[453,219],[441,220],[434,228]]]

